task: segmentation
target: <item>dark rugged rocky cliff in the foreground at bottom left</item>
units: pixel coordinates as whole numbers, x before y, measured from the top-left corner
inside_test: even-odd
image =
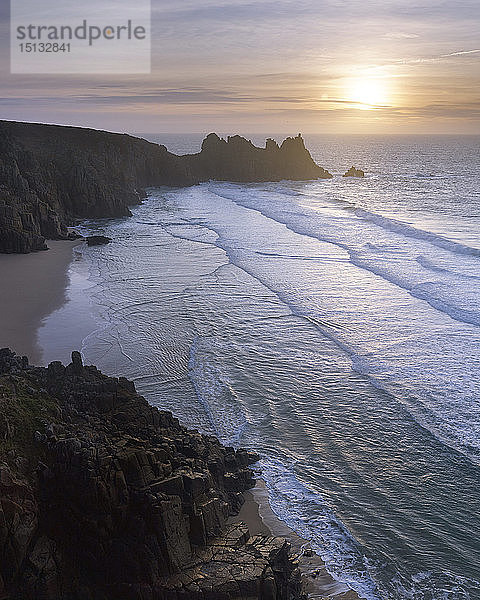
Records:
[[[226,526],[258,457],[72,359],[0,350],[0,598],[303,598],[285,540]]]

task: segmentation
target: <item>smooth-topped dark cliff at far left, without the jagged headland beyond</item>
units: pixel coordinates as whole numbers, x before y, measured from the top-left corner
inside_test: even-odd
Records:
[[[0,121],[0,252],[45,249],[74,218],[121,217],[148,185],[194,179],[164,146],[78,127]]]

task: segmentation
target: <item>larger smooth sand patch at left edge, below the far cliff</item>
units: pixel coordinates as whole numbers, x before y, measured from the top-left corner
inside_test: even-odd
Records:
[[[0,254],[0,347],[38,364],[37,331],[42,320],[66,300],[68,267],[75,241],[49,241],[49,250]]]

